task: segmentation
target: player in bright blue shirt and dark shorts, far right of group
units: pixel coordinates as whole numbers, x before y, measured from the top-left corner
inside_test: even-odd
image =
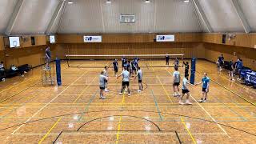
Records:
[[[195,84],[195,86],[198,86],[201,83],[202,83],[202,98],[199,102],[206,102],[207,94],[209,93],[209,84],[210,84],[210,78],[207,77],[207,73],[204,73],[204,77],[202,78],[202,81]]]

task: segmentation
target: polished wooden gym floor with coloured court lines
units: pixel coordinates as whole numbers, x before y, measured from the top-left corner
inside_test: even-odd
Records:
[[[42,86],[39,69],[0,82],[1,143],[255,142],[256,90],[230,82],[226,71],[217,74],[214,63],[198,61],[196,81],[209,73],[210,94],[198,103],[202,86],[190,86],[192,106],[178,105],[173,68],[154,67],[162,61],[140,62],[145,90],[138,94],[132,81],[130,97],[118,95],[122,78],[109,70],[110,92],[99,99],[97,66],[110,63],[62,62],[60,87]]]

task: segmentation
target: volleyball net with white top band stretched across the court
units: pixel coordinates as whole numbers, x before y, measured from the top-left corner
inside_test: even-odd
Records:
[[[166,65],[166,56],[170,58]],[[118,60],[118,66],[122,66],[122,58],[132,62],[138,58],[140,67],[174,67],[174,60],[178,58],[180,65],[184,62],[184,54],[114,54],[114,55],[80,55],[66,54],[66,62],[69,67],[78,68],[102,68],[113,66],[114,59]]]

